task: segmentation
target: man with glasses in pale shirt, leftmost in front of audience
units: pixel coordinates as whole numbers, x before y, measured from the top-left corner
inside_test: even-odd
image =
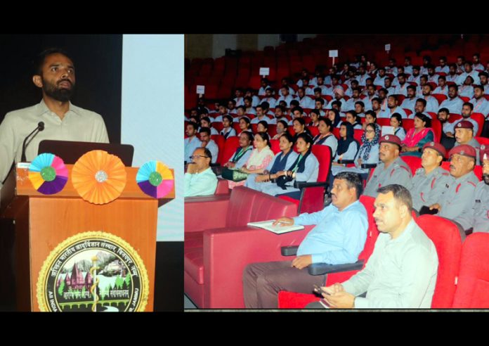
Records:
[[[210,167],[212,154],[207,148],[197,148],[193,152],[192,163],[185,173],[184,196],[207,196],[216,192],[217,177]]]

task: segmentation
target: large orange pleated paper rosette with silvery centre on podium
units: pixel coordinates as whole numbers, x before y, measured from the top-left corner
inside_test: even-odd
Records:
[[[119,197],[126,186],[126,169],[121,159],[104,150],[92,150],[75,162],[72,184],[84,200],[105,204]]]

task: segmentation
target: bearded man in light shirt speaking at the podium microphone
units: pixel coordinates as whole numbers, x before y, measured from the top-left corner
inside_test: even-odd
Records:
[[[70,102],[74,93],[75,69],[65,51],[43,51],[37,57],[34,69],[32,82],[42,90],[41,102],[7,113],[0,124],[0,189],[12,162],[22,160],[22,143],[37,127],[39,131],[25,142],[27,161],[37,156],[39,142],[43,139],[109,142],[103,118]]]

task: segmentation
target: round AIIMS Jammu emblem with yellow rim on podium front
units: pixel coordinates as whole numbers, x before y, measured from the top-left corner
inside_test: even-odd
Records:
[[[60,243],[37,281],[41,311],[144,311],[148,294],[148,274],[138,252],[105,232],[79,233]]]

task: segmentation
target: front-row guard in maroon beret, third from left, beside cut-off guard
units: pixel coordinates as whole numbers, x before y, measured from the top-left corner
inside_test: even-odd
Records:
[[[443,198],[430,206],[430,210],[438,209],[438,216],[458,222],[464,229],[471,225],[467,215],[472,213],[472,200],[478,184],[474,167],[476,165],[476,149],[467,144],[455,146],[450,150],[450,175],[455,178],[452,185],[443,194]]]

